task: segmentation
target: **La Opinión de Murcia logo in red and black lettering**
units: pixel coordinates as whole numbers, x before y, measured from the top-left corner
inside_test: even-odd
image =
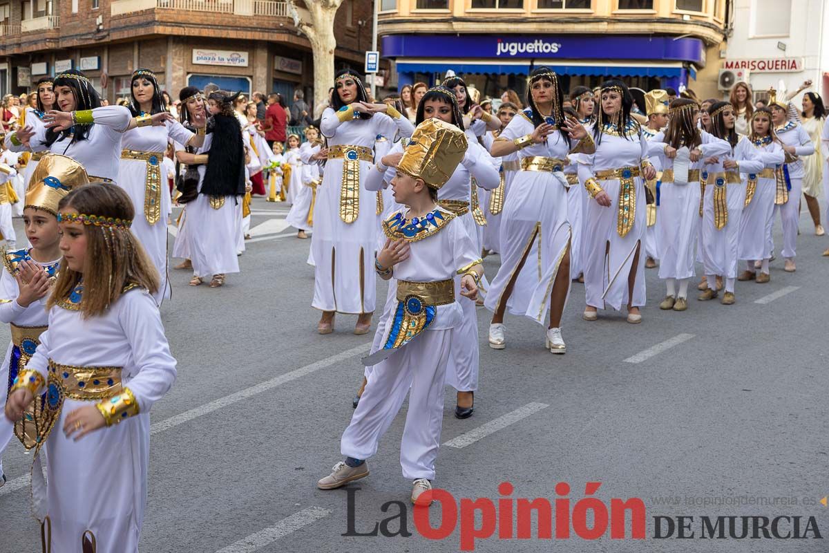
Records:
[[[459,530],[459,550],[474,551],[481,540],[613,540],[674,539],[822,539],[815,517],[802,516],[665,516],[652,517],[652,535],[647,535],[647,510],[638,497],[607,500],[594,497],[602,483],[588,482],[584,496],[570,497],[570,484],[555,485],[552,500],[511,497],[509,482],[498,486],[497,499],[478,497],[459,501],[444,489],[424,492],[414,506],[414,529],[428,540],[447,540]],[[410,519],[405,502],[389,501],[381,505],[381,520],[361,521],[357,529],[356,492],[347,488],[348,537],[410,537]],[[431,509],[426,507],[434,501]],[[435,514],[439,512],[439,516]],[[431,519],[431,520],[430,520]],[[536,528],[533,531],[533,528]]]

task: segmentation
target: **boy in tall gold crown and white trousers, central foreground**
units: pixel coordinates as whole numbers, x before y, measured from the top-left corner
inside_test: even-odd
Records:
[[[319,480],[318,488],[340,488],[368,476],[365,459],[376,453],[382,434],[411,390],[400,464],[403,476],[414,480],[413,502],[431,489],[452,329],[463,318],[453,277],[463,274],[461,294],[475,299],[483,274],[478,250],[465,227],[436,202],[439,188],[452,176],[466,149],[463,131],[428,119],[415,129],[400,159],[392,187],[395,201],[406,207],[383,222],[387,240],[375,263],[382,279],[394,275],[398,304],[385,321],[384,346],[363,359],[374,370],[342,434],[346,459]]]

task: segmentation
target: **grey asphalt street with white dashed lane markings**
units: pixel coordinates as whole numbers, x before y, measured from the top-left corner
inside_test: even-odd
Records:
[[[284,207],[261,198],[253,207],[255,239],[240,259],[241,274],[229,275],[224,288],[191,288],[187,271],[170,274],[173,297],[162,318],[178,380],[153,407],[142,551],[458,551],[458,528],[429,541],[414,526],[411,483],[400,475],[403,416],[368,462],[371,476],[351,488],[361,488],[356,531],[397,515],[399,506],[381,506],[398,500],[412,536],[342,536],[347,492],[315,484],[341,458],[340,435],[372,335],[354,336],[356,318],[342,315],[332,335],[317,334],[313,268],[305,263],[310,240],[293,237]],[[22,239],[20,220],[16,226]],[[569,540],[550,543],[536,538],[533,522],[533,539],[498,540],[496,531],[476,541],[475,551],[827,551],[829,507],[819,500],[829,495],[829,258],[821,257],[829,236],[813,235],[805,206],[801,229],[797,273],[784,273],[783,260],[775,260],[771,283],[738,283],[730,307],[698,302],[693,290],[685,313],[660,311],[664,288],[652,269],[641,325],[625,323],[623,313],[588,323],[584,286],[574,284],[565,356],[545,351],[541,326],[515,317],[507,318],[507,349],[490,349],[489,313],[479,308],[475,414],[456,420],[446,389],[435,486],[458,502],[496,501],[498,484],[508,481],[515,488],[508,497],[552,502],[560,497],[555,484],[566,482],[572,512],[585,483],[600,482],[594,497],[608,507],[613,497],[642,499],[647,539],[630,539],[629,517],[625,540],[611,540],[609,529],[599,541],[571,530]],[[776,232],[781,244],[779,222]],[[497,256],[486,260],[490,278],[497,263]],[[4,325],[0,341],[7,340]],[[30,463],[12,443],[4,458],[9,481],[0,489],[2,553],[40,551],[28,510]],[[435,527],[439,512],[432,507]],[[800,516],[801,532],[814,516],[824,539],[696,539],[702,516],[755,515]],[[676,539],[676,530],[654,539],[658,516],[695,517],[695,540]],[[400,520],[389,526],[398,531]],[[781,533],[791,526],[781,522]]]

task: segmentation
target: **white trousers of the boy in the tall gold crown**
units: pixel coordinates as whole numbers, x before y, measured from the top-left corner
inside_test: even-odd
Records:
[[[377,444],[409,393],[409,410],[400,442],[403,477],[434,480],[451,341],[451,329],[427,330],[374,367],[351,424],[342,434],[343,455],[367,459],[376,454]]]

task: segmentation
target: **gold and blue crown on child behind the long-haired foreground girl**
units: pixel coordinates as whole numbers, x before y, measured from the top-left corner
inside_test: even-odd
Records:
[[[26,192],[26,206],[57,215],[57,205],[73,188],[90,183],[84,166],[59,153],[47,153],[37,163]]]

